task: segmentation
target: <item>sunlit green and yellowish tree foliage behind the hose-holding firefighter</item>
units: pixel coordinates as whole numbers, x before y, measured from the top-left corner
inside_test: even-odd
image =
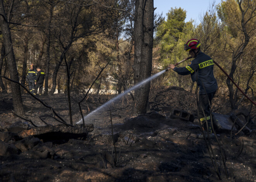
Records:
[[[246,10],[248,3],[253,5],[253,2],[243,0],[241,6]],[[250,14],[255,15],[254,9],[255,5],[254,8],[251,6],[248,9],[247,14],[245,14],[245,20],[248,19]],[[167,20],[157,28],[156,36],[159,39],[159,44],[156,45],[156,48],[159,48],[159,62],[162,68],[166,68],[170,63],[176,63],[187,57],[187,53],[183,50],[183,44],[191,38],[197,38],[202,43],[201,50],[211,56],[229,73],[234,53],[244,44],[244,32],[241,26],[242,13],[237,1],[226,0],[217,6],[210,7],[201,17],[200,24],[195,27],[192,22],[185,23],[183,17],[185,17],[185,10],[171,9]],[[246,22],[245,26],[247,33],[250,34],[250,41],[237,61],[237,69],[233,77],[242,90],[246,89],[247,81],[253,73],[251,68],[255,64],[255,22],[255,16],[252,20]],[[178,66],[186,65],[187,62]],[[163,82],[163,85],[179,86],[191,91],[192,82],[189,77],[181,77],[173,71],[167,74],[168,79]],[[217,66],[214,67],[214,75],[218,81],[221,94],[227,94],[226,75]],[[249,86],[253,90],[256,89],[255,75],[251,78]],[[195,88],[195,85],[193,87]],[[248,92],[251,93],[250,90]],[[236,93],[234,97],[239,98],[241,94],[239,92]]]

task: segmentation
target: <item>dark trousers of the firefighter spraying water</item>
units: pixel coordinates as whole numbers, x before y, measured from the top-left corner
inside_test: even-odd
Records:
[[[211,106],[211,101],[213,100],[213,96],[214,96],[215,92],[199,95],[199,101],[198,101],[197,107],[199,110],[198,118],[200,119],[201,122],[211,119],[210,118],[210,106]],[[204,115],[206,116],[206,119],[205,119]]]

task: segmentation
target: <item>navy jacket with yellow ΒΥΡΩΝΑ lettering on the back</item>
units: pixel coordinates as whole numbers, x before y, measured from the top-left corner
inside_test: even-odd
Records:
[[[213,75],[213,65],[213,59],[200,52],[186,67],[175,67],[173,70],[179,75],[190,74],[192,81],[197,82],[199,94],[209,94],[215,92],[218,88],[217,81]]]

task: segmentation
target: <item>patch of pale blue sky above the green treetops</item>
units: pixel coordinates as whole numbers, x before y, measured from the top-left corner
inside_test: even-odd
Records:
[[[187,17],[185,22],[190,19],[195,20],[195,23],[199,23],[199,17],[202,16],[207,10],[209,10],[210,4],[215,2],[215,5],[221,2],[221,0],[154,0],[154,7],[157,8],[155,13],[161,14],[166,17],[166,13],[171,8],[181,7],[183,10],[187,11]]]

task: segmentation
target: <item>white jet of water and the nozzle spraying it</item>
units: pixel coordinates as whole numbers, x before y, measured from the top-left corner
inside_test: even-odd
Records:
[[[185,58],[184,60],[178,62],[175,64],[175,66],[179,65],[180,63],[186,61],[186,60],[189,60],[190,58],[192,57],[188,57],[188,58]],[[155,75],[152,75],[151,77],[149,78],[146,78],[145,80],[142,80],[140,83],[138,83],[137,85],[134,85],[133,87],[130,87],[129,89],[125,90],[125,92],[123,92],[122,94],[118,94],[116,97],[114,97],[113,99],[107,101],[105,104],[101,105],[100,107],[98,107],[97,109],[95,109],[94,111],[90,112],[88,115],[86,115],[84,117],[84,120],[85,119],[88,119],[89,117],[91,117],[95,112],[97,111],[100,111],[101,109],[103,109],[104,107],[107,107],[108,105],[110,105],[111,103],[113,103],[114,101],[118,100],[118,99],[121,99],[124,95],[128,94],[131,90],[135,90],[137,89],[138,87],[144,85],[145,83],[147,82],[150,82],[151,80],[153,80],[154,78],[157,78],[159,77],[160,75],[162,75],[164,72],[170,70],[171,68],[166,68],[165,70],[163,71],[160,71],[159,73],[156,73]],[[80,121],[78,121],[76,124],[81,124],[83,122],[83,119],[81,119]]]

